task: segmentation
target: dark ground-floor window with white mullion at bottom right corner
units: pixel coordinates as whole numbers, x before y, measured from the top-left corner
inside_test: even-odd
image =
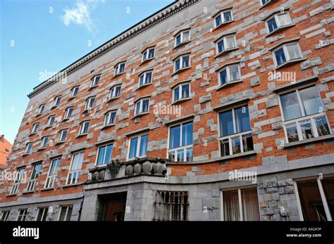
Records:
[[[297,189],[304,220],[333,220],[334,177],[297,181]]]

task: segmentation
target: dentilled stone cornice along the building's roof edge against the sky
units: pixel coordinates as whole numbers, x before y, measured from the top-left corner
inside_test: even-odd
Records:
[[[36,94],[43,91],[47,87],[51,86],[51,84],[54,84],[58,82],[59,80],[61,80],[62,77],[66,77],[72,74],[73,72],[82,68],[83,66],[92,62],[93,60],[96,60],[97,58],[111,51],[112,49],[115,49],[117,46],[120,46],[121,44],[124,44],[126,41],[129,41],[130,39],[136,37],[138,34],[141,34],[142,32],[145,32],[146,30],[151,29],[155,25],[158,25],[159,23],[161,23],[163,20],[171,18],[173,15],[179,13],[180,11],[183,11],[190,6],[197,4],[199,1],[201,0],[175,1],[173,4],[166,6],[160,11],[142,20],[140,23],[133,25],[132,27],[130,27],[128,30],[125,30],[121,34],[118,34],[118,36],[107,41],[105,44],[102,44],[97,49],[94,49],[94,51],[88,53],[86,56],[75,61],[74,63],[69,65],[67,68],[58,72],[53,77],[42,82],[42,84],[35,86],[33,91],[27,96],[29,98],[32,98],[32,96],[35,96]]]

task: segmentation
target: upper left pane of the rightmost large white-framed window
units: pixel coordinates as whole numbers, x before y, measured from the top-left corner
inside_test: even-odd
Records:
[[[302,117],[296,91],[280,96],[280,104],[282,105],[285,120],[293,120],[297,117]]]

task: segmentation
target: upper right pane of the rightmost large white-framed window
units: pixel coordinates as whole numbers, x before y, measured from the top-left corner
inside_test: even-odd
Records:
[[[305,115],[313,115],[314,113],[323,113],[325,111],[316,86],[299,90],[299,95],[302,99]]]

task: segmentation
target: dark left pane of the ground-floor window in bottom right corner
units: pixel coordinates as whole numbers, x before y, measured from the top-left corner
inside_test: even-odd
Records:
[[[316,179],[297,181],[297,188],[304,220],[326,221],[326,213]]]

